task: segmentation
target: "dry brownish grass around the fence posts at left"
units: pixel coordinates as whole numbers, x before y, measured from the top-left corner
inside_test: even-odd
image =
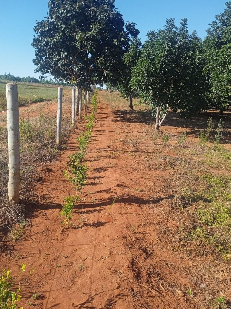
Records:
[[[69,106],[71,100],[67,100],[65,104]],[[64,112],[62,120],[62,145],[65,144],[71,130],[69,118],[70,116]],[[36,173],[38,164],[51,162],[57,155],[56,118],[40,112],[38,117],[32,120],[22,119],[19,129],[21,156],[20,200],[23,204],[33,196],[31,184],[38,179]],[[0,225],[6,225],[9,223],[8,221],[11,223],[19,222],[23,216],[23,211],[18,211],[19,206],[16,205],[14,207],[10,205],[6,198],[8,182],[8,143],[6,128],[0,128],[0,149]],[[7,210],[8,207],[10,207],[9,211]]]

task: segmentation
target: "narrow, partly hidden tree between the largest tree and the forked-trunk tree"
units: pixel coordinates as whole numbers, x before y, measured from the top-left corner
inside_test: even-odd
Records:
[[[129,50],[124,54],[124,68],[121,73],[121,77],[118,82],[118,88],[120,90],[121,96],[124,99],[129,99],[129,107],[133,110],[132,99],[139,97],[139,93],[136,89],[132,89],[130,85],[132,69],[136,65],[140,55],[141,55],[141,41],[139,38],[132,38]]]

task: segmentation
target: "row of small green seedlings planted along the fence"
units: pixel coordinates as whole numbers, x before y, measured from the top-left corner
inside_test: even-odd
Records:
[[[84,115],[83,119],[86,121],[85,128],[87,129],[86,132],[82,133],[78,138],[77,141],[79,143],[78,147],[79,150],[75,153],[68,156],[67,161],[67,170],[63,171],[63,175],[71,182],[71,184],[74,185],[75,189],[75,195],[71,195],[69,197],[63,197],[64,204],[63,208],[60,211],[60,216],[64,217],[64,220],[61,222],[63,225],[63,228],[67,228],[70,225],[75,226],[71,222],[72,218],[72,210],[75,206],[75,203],[77,201],[80,201],[80,192],[82,188],[87,183],[87,171],[88,167],[84,163],[84,158],[86,155],[86,148],[89,139],[92,135],[92,129],[94,126],[95,121],[95,114],[97,112],[97,90],[95,94],[91,98],[91,104],[92,104],[92,112],[90,115]],[[79,220],[80,224],[81,220]]]

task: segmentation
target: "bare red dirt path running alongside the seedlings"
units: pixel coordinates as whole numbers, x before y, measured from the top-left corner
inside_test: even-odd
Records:
[[[63,170],[67,156],[78,150],[76,137],[83,130],[78,122],[65,151],[39,169],[35,192],[40,201],[31,210],[31,227],[14,245],[18,258],[2,255],[1,268],[16,274],[26,263],[20,279],[24,309],[31,308],[28,302],[37,308],[60,309],[194,308],[180,292],[190,285],[183,267],[177,271],[168,267],[190,262],[161,247],[157,227],[171,222],[162,220],[159,203],[152,209],[148,203],[154,191],[160,200],[161,192],[166,193],[163,173],[145,167],[145,158],[123,142],[128,132],[145,137],[146,125],[126,125],[98,94],[97,120],[86,156],[88,183],[72,218],[76,225],[80,218],[83,222],[62,231],[59,217],[63,196],[75,193]],[[168,171],[164,173],[167,176]],[[32,267],[34,273],[28,276]],[[179,291],[172,288],[176,282]],[[34,293],[40,294],[38,300],[31,300]]]

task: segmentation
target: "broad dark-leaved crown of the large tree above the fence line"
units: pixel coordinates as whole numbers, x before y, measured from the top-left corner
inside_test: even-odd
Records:
[[[50,0],[48,16],[34,27],[34,64],[42,77],[88,88],[116,79],[134,23],[124,29],[114,0]]]

